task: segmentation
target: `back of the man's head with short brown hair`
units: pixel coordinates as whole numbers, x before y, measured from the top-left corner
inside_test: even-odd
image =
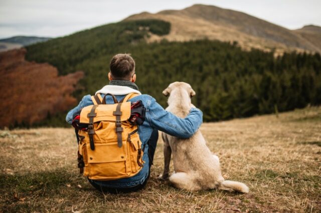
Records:
[[[135,61],[130,54],[116,54],[109,63],[111,76],[115,80],[129,80],[135,71]]]

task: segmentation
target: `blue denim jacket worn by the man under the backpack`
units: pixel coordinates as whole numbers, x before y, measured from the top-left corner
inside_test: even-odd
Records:
[[[102,95],[103,96],[103,95]],[[117,100],[121,100],[125,95],[115,95]],[[147,94],[135,96],[128,101],[135,102],[141,100],[146,108],[145,121],[138,128],[138,134],[141,142],[145,145],[143,160],[145,166],[132,177],[121,178],[117,180],[94,180],[97,184],[104,187],[120,188],[131,187],[143,183],[148,176],[148,144],[147,141],[151,135],[152,130],[158,129],[170,135],[188,138],[191,137],[200,127],[203,121],[203,113],[198,108],[192,108],[188,116],[180,118],[173,113],[166,111],[159,105],[155,98]],[[111,96],[106,96],[106,103],[114,103]],[[79,105],[70,110],[66,116],[66,121],[71,124],[73,115],[80,112],[85,106],[92,105],[91,95],[85,95],[80,101]]]

